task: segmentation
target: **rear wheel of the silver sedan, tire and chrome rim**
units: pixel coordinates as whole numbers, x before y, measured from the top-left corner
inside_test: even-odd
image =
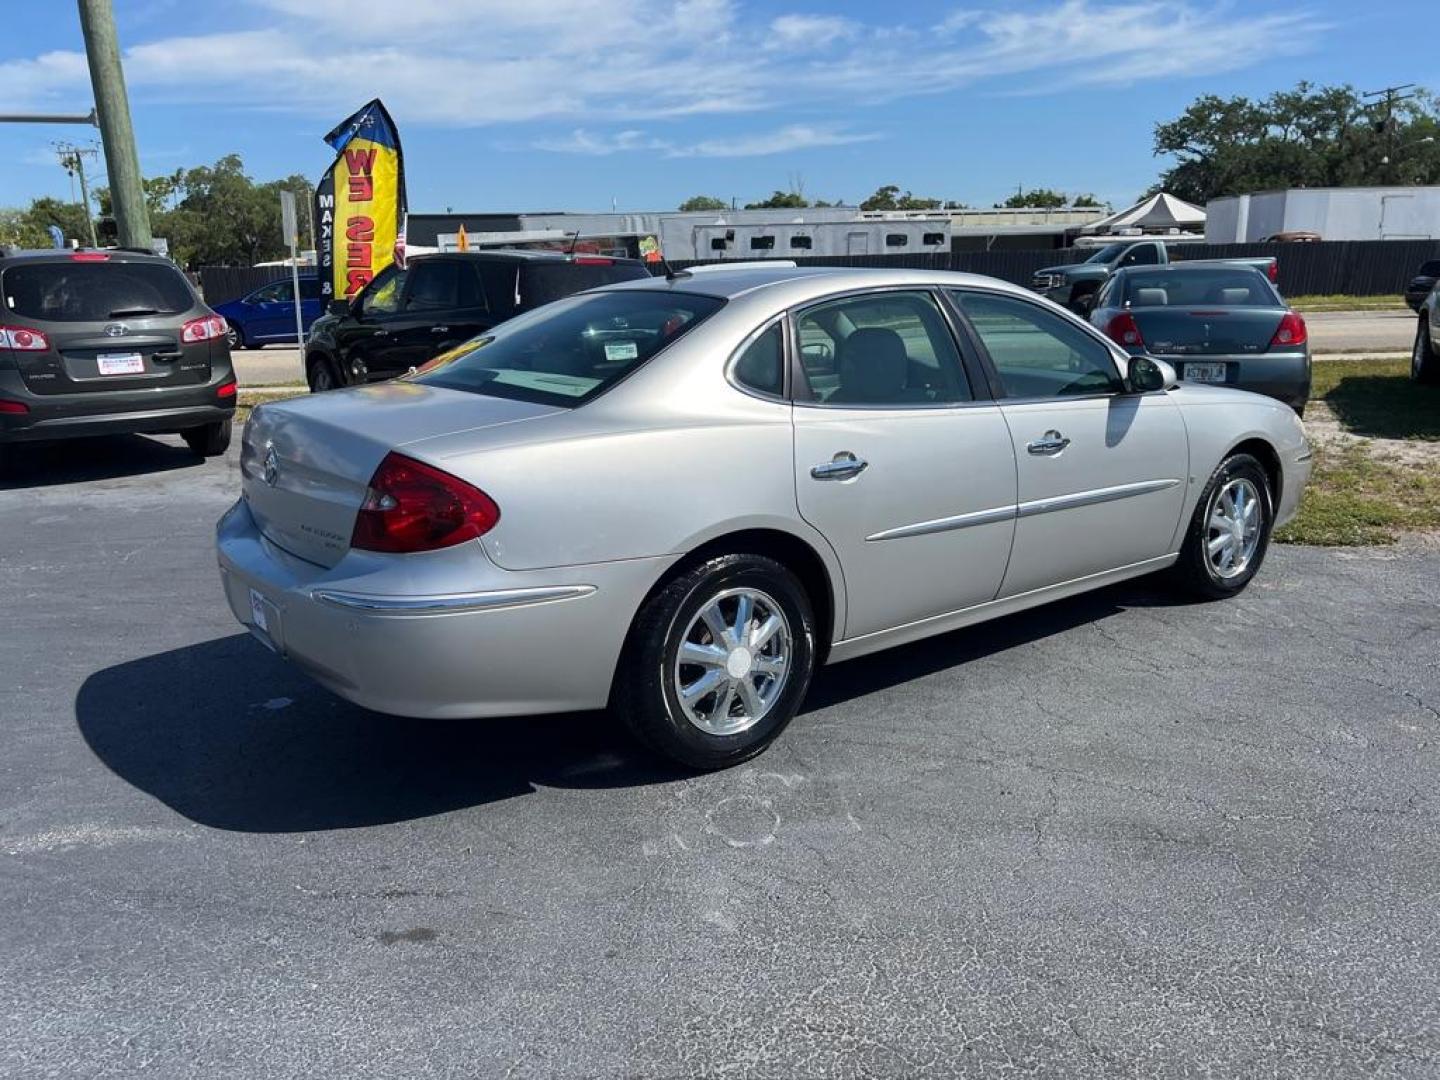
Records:
[[[631,626],[611,708],[651,750],[724,769],[769,746],[815,668],[815,615],[785,566],[724,554],[654,593]]]

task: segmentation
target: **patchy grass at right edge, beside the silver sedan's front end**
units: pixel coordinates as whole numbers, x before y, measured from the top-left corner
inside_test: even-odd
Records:
[[[1315,364],[1310,400],[1362,438],[1440,441],[1440,387],[1410,380],[1410,363]],[[1300,513],[1276,531],[1290,544],[1391,544],[1413,528],[1440,528],[1440,468],[1377,458],[1368,442],[1316,446]]]

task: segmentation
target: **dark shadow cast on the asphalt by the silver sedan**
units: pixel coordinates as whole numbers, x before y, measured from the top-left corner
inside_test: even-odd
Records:
[[[824,668],[802,711],[883,691],[1093,624],[1185,600],[1153,583],[1103,589]],[[236,634],[95,672],[75,700],[95,755],[212,828],[305,832],[478,806],[536,786],[603,789],[690,773],[600,713],[408,720],[353,706]]]

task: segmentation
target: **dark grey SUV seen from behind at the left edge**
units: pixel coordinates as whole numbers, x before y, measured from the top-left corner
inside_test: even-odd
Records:
[[[196,454],[223,454],[226,330],[157,255],[0,253],[0,456],[14,442],[128,432],[179,432]]]

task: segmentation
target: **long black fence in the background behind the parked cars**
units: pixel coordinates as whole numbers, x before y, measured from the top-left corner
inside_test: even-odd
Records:
[[[1185,243],[1171,249],[1181,259],[1237,259],[1273,255],[1280,288],[1289,297],[1398,295],[1421,262],[1440,258],[1440,240],[1335,240],[1320,243]],[[1017,285],[1045,266],[1080,262],[1084,248],[1066,251],[939,252],[927,255],[818,255],[799,258],[806,266],[903,266],[984,274]],[[672,268],[696,264],[671,264]]]

